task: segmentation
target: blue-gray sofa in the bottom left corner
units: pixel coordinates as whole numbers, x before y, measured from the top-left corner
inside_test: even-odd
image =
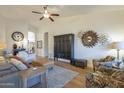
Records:
[[[21,79],[16,67],[9,63],[0,63],[0,88],[17,87],[21,87]]]

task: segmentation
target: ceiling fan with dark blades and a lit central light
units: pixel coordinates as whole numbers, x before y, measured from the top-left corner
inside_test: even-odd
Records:
[[[32,11],[32,13],[42,14],[43,16],[40,18],[40,20],[42,20],[43,18],[49,18],[52,22],[54,22],[52,16],[60,16],[59,14],[49,13],[47,10],[47,5],[44,6],[43,9],[44,9],[43,12]]]

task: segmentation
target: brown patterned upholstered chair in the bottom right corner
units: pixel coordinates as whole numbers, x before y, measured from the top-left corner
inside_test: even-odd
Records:
[[[100,66],[95,73],[86,75],[87,88],[124,88],[124,69]]]

